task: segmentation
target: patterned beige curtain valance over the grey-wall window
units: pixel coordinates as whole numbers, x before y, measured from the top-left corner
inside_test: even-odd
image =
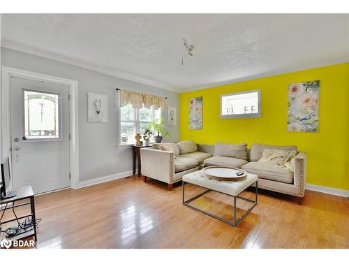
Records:
[[[142,94],[127,90],[120,90],[120,106],[131,103],[133,108],[151,108],[154,105],[155,109],[166,107],[165,98],[161,96],[154,96],[151,94]]]

